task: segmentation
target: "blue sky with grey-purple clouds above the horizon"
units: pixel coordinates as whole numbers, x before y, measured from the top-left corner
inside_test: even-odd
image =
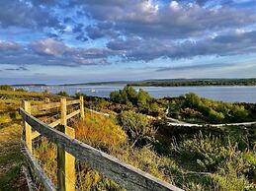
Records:
[[[255,78],[255,0],[0,0],[0,84]]]

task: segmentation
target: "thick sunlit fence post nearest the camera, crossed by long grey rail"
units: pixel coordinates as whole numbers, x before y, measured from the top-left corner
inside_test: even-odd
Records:
[[[75,138],[74,129],[67,126],[66,98],[60,99],[60,117],[59,131]],[[57,168],[58,190],[75,191],[75,158],[60,147],[57,148]]]

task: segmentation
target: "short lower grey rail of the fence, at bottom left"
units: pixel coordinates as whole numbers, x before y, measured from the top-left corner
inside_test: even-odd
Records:
[[[29,161],[30,167],[39,179],[39,181],[43,184],[43,188],[47,191],[56,191],[56,187],[54,184],[50,181],[50,179],[46,176],[46,174],[43,172],[42,167],[38,163],[37,159],[35,159],[32,154],[30,153],[29,149],[26,146],[26,143],[22,141],[23,144],[23,154],[25,158]]]

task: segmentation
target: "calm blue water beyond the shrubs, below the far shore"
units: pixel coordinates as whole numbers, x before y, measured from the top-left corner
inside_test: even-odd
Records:
[[[108,97],[113,91],[123,89],[124,86],[48,86],[26,87],[28,91],[51,93],[65,91],[69,95],[84,93],[88,96]],[[196,93],[199,96],[222,100],[225,102],[256,102],[256,87],[139,87],[147,91],[150,96],[181,96],[187,93]],[[135,87],[136,90],[139,89]]]

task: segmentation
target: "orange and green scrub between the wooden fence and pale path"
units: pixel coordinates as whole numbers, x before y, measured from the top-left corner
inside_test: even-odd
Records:
[[[256,132],[252,137],[239,129],[213,135],[200,130],[165,134],[166,128],[172,127],[159,126],[157,121],[132,111],[124,111],[117,118],[86,113],[85,121],[74,127],[77,139],[185,190],[256,189]],[[139,141],[134,144],[135,140]],[[43,156],[47,156],[45,166],[55,159],[50,162],[49,155]],[[122,190],[86,163],[77,161],[76,166],[81,190]]]

